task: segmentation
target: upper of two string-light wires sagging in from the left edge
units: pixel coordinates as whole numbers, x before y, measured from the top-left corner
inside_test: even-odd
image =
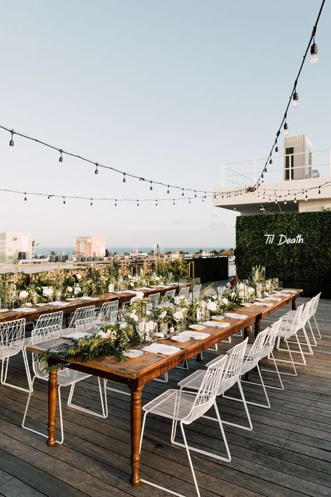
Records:
[[[63,155],[68,155],[69,157],[80,159],[80,160],[82,160],[84,162],[88,162],[89,164],[93,164],[94,166],[96,166],[97,169],[98,169],[98,167],[102,167],[103,169],[108,169],[108,170],[110,170],[112,172],[116,172],[118,174],[122,174],[122,176],[124,176],[126,178],[129,177],[129,178],[133,178],[133,179],[138,179],[139,181],[146,181],[147,183],[152,183],[153,185],[160,185],[160,186],[165,186],[165,188],[172,188],[172,189],[177,189],[177,190],[184,190],[186,192],[211,193],[210,190],[199,190],[199,189],[196,189],[196,188],[183,188],[182,186],[171,185],[170,183],[163,183],[162,181],[154,181],[153,179],[147,179],[147,178],[144,178],[142,176],[137,176],[136,174],[131,174],[131,173],[128,173],[126,171],[121,171],[120,169],[117,169],[116,167],[112,167],[112,166],[108,166],[108,165],[105,165],[105,164],[101,164],[101,162],[97,162],[96,160],[87,159],[87,158],[83,157],[82,155],[78,155],[78,154],[73,153],[73,152],[65,151],[63,148],[59,148],[57,146],[47,144],[45,141],[39,140],[37,138],[29,137],[27,134],[15,131],[12,128],[0,125],[0,129],[4,130],[4,131],[8,131],[11,134],[11,136],[17,135],[17,137],[21,137],[21,138],[24,138],[24,139],[27,139],[27,140],[30,140],[30,141],[34,141],[37,144],[41,144],[41,145],[43,145],[43,146],[45,146],[47,148],[51,148],[52,150],[55,150],[55,151],[59,152],[60,155],[61,155],[61,157]]]

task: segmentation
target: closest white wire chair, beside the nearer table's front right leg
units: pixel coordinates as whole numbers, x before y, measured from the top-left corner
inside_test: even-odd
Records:
[[[203,371],[203,377],[200,382],[200,387],[198,388],[198,391],[196,393],[183,391],[182,389],[181,390],[171,389],[161,393],[161,395],[159,395],[154,400],[148,402],[144,407],[142,407],[144,411],[144,417],[142,419],[140,450],[142,446],[142,438],[144,436],[144,431],[145,431],[147,414],[154,414],[172,420],[171,441],[175,437],[174,432],[177,428],[177,423],[179,423],[179,426],[182,431],[182,437],[184,438],[184,444],[179,444],[179,442],[176,442],[176,444],[180,445],[180,447],[185,447],[186,449],[186,454],[187,457],[189,458],[189,465],[191,468],[193,482],[196,487],[196,493],[198,497],[200,497],[200,491],[190,454],[190,449],[193,448],[190,447],[189,444],[187,443],[184,426],[193,423],[193,421],[196,421],[201,416],[203,416],[203,414],[205,414],[205,412],[207,412],[211,407],[214,407],[217,419],[219,421],[219,428],[221,430],[221,435],[223,436],[223,440],[226,444],[226,451],[228,453],[228,457],[230,456],[228,452],[228,444],[226,442],[226,437],[222,426],[222,421],[219,416],[219,410],[217,409],[216,406],[216,394],[217,391],[219,390],[219,384],[223,376],[223,370],[225,364],[226,364],[226,356],[220,356],[219,358],[217,358],[217,360],[214,361],[213,364],[209,365],[209,367],[207,367],[207,370]],[[201,451],[200,449],[196,450],[199,451],[201,454],[209,455],[209,453]],[[222,458],[221,456],[217,456],[217,458],[221,459],[222,461],[228,461],[228,458]],[[162,489],[170,493],[175,493],[173,491],[165,489],[163,486],[159,486],[152,482],[148,482],[145,479],[142,479],[142,482],[150,484],[158,489]],[[175,495],[179,494],[175,493]]]

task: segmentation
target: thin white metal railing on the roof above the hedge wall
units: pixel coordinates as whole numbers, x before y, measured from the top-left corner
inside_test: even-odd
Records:
[[[286,162],[286,158],[288,158]],[[221,188],[236,188],[256,183],[267,158],[228,162],[221,166]],[[285,167],[285,163],[287,167]],[[272,157],[267,163],[265,183],[331,176],[331,150],[300,152]]]

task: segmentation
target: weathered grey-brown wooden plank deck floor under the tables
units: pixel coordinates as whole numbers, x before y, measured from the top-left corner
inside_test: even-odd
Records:
[[[305,299],[300,299],[302,302]],[[282,309],[284,313],[287,309]],[[321,300],[316,317],[323,339],[314,356],[298,367],[297,377],[284,377],[285,391],[269,389],[271,409],[250,406],[253,431],[225,426],[231,463],[193,456],[202,496],[314,496],[331,495],[331,301]],[[274,321],[279,314],[270,316]],[[263,327],[270,321],[263,321]],[[233,339],[235,342],[236,339]],[[230,347],[221,344],[221,351]],[[205,353],[204,360],[215,356]],[[191,370],[202,367],[190,361]],[[11,378],[24,381],[22,362],[13,359]],[[174,388],[187,371],[175,369],[170,381],[152,381],[143,403],[167,388]],[[251,377],[254,379],[254,376]],[[275,375],[265,373],[274,382]],[[119,388],[121,388],[119,386]],[[124,388],[124,387],[122,387]],[[258,386],[245,385],[247,400],[262,401]],[[165,496],[164,491],[129,483],[129,400],[108,392],[110,414],[101,420],[64,407],[65,440],[49,448],[43,437],[21,428],[27,394],[0,387],[0,494],[3,496]],[[67,393],[64,391],[64,398]],[[35,386],[29,423],[45,430],[47,384]],[[98,407],[96,381],[83,381],[74,400]],[[245,423],[242,405],[219,400],[224,420]],[[238,421],[237,421],[238,422]],[[212,421],[194,423],[189,440],[200,447],[223,451]],[[147,421],[142,450],[142,477],[186,496],[196,495],[186,454],[170,444],[170,423],[152,416]]]

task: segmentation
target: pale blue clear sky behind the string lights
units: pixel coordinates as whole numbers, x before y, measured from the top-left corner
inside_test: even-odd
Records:
[[[184,188],[220,186],[221,164],[267,155],[321,2],[17,0],[0,2],[0,125],[122,171]],[[318,64],[305,64],[290,134],[330,148],[330,2]],[[105,235],[108,246],[234,246],[236,213],[207,198],[100,170],[0,130],[0,232],[40,246]]]

